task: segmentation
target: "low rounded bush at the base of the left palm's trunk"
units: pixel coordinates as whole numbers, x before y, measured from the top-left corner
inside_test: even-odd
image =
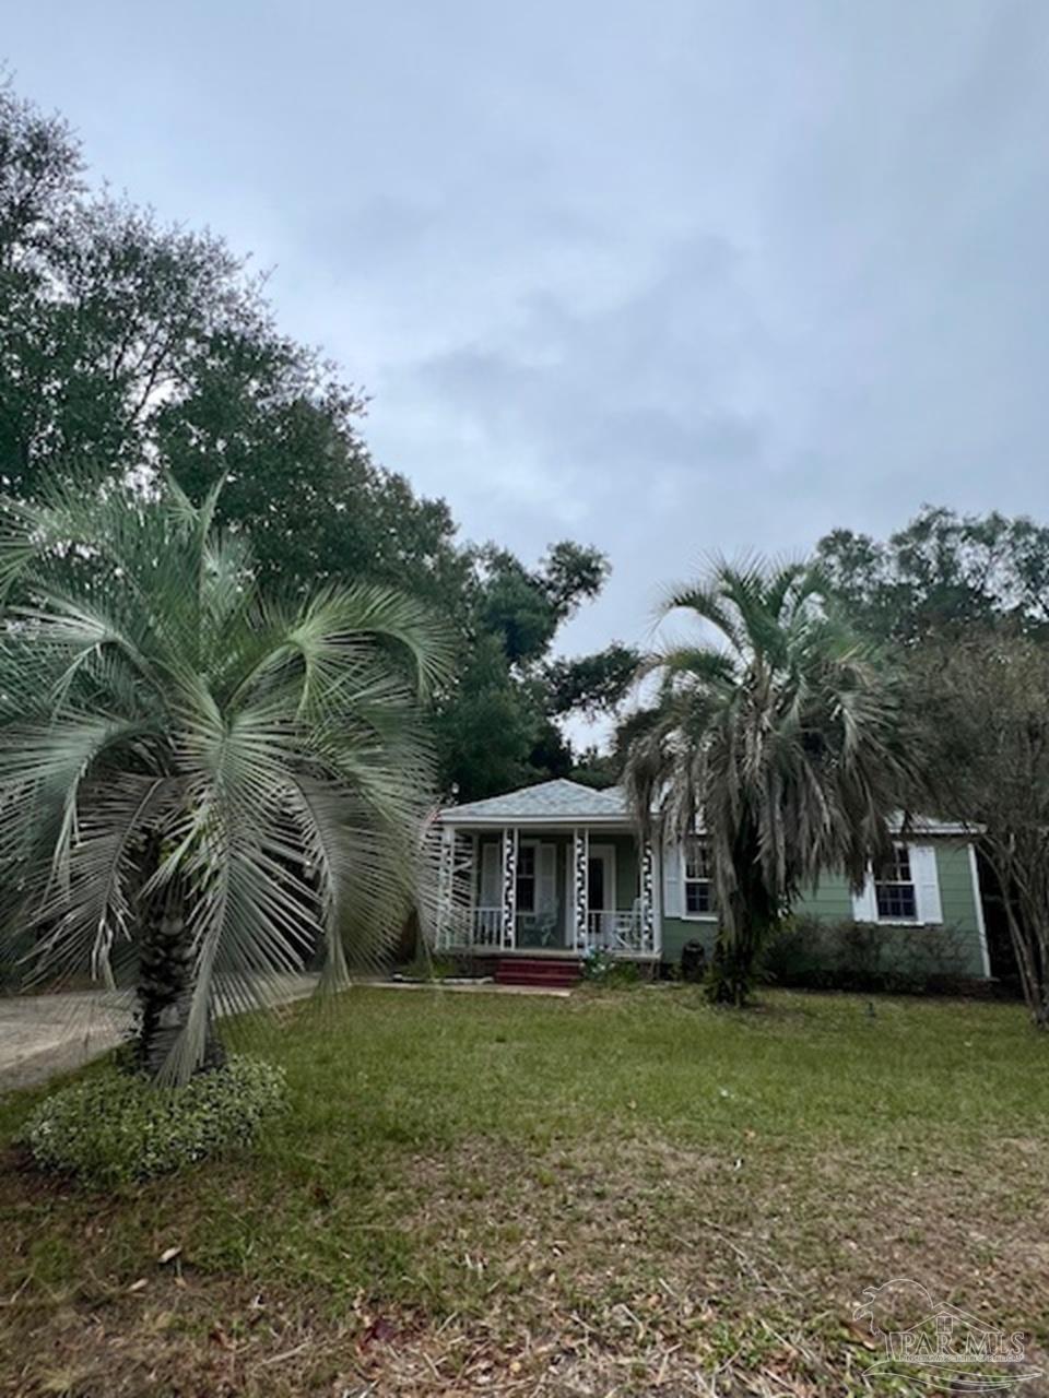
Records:
[[[41,1103],[21,1141],[43,1170],[126,1184],[250,1144],[283,1100],[284,1069],[257,1058],[229,1058],[185,1088],[108,1067]]]

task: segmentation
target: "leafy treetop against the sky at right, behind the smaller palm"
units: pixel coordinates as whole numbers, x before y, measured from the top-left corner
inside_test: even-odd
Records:
[[[1049,527],[927,505],[885,542],[835,530],[817,545],[831,591],[869,635],[912,644],[979,628],[1049,630]]]

